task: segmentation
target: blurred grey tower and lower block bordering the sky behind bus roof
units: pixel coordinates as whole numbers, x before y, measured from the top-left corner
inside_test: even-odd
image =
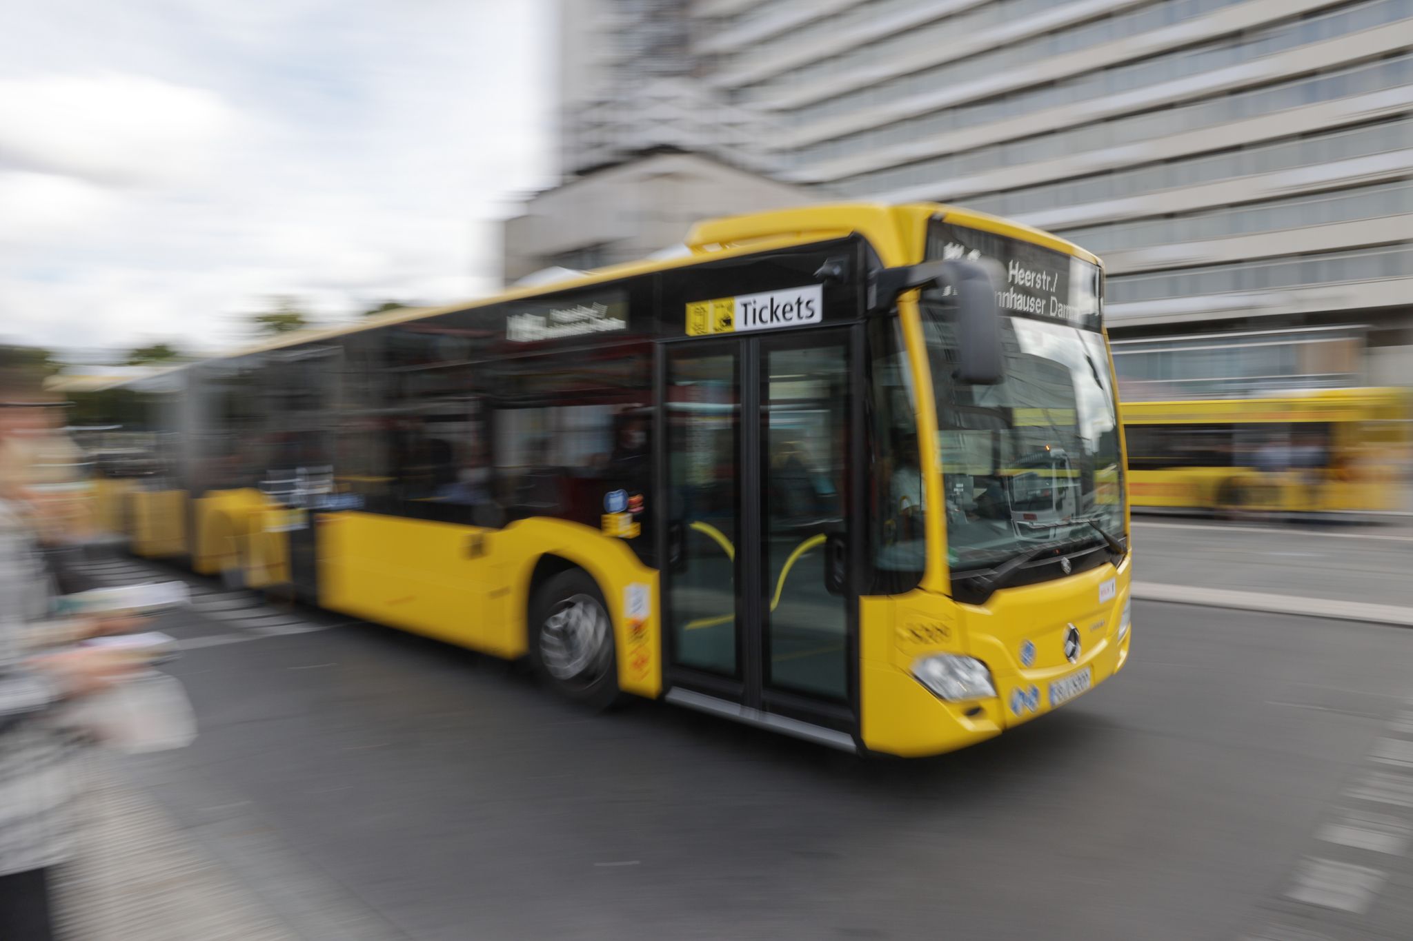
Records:
[[[560,181],[502,226],[506,282],[681,245],[708,216],[791,206],[766,159],[770,116],[702,80],[690,0],[560,0]]]

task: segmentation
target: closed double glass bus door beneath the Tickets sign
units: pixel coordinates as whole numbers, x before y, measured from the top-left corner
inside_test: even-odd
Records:
[[[670,700],[852,746],[855,327],[667,344]]]

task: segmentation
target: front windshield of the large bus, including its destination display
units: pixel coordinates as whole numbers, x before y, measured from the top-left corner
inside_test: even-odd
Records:
[[[1007,275],[999,296],[1005,374],[996,385],[955,378],[954,308],[937,292],[923,298],[948,564],[957,573],[992,569],[1054,540],[1104,545],[1101,530],[1122,539],[1123,460],[1098,330],[1098,268],[991,233],[951,227],[947,236],[934,257],[955,255],[962,244],[968,257],[995,258]]]

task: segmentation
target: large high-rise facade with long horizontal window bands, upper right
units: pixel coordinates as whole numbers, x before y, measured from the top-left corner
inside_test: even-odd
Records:
[[[698,0],[691,17],[694,73],[760,111],[766,158],[820,198],[1060,233],[1105,258],[1119,334],[1359,320],[1413,353],[1413,0]]]

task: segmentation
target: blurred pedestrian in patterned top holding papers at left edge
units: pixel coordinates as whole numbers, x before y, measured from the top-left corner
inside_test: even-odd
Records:
[[[0,938],[54,937],[54,868],[72,851],[76,760],[89,735],[66,721],[71,703],[131,672],[105,648],[65,646],[102,629],[47,622],[52,580],[34,515],[23,502],[24,451],[35,389],[0,371]]]

